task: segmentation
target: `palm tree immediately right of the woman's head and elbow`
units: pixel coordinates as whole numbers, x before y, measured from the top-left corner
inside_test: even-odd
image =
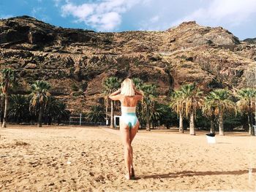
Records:
[[[157,86],[144,84],[141,90],[143,91],[143,112],[146,113],[146,130],[150,131],[150,113],[154,106],[154,99],[158,95]]]

